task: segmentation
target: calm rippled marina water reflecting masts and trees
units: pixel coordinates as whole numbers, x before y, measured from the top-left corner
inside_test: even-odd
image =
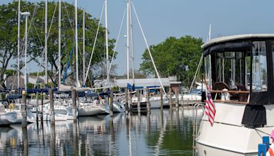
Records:
[[[192,109],[180,107],[34,123],[27,131],[0,127],[0,155],[192,155],[193,119]]]

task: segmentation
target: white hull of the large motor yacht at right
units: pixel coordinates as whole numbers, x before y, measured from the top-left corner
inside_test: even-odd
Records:
[[[204,155],[204,151],[207,155],[258,155],[258,144],[262,143],[262,136],[271,133],[273,123],[248,128],[241,124],[245,105],[215,103],[215,107],[213,126],[203,114],[196,140],[199,155]],[[274,105],[265,107],[266,120],[273,120]]]

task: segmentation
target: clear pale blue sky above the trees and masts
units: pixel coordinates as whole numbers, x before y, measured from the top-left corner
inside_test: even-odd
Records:
[[[1,0],[0,4],[12,0]],[[31,0],[38,1],[38,0]],[[56,0],[55,0],[56,1]],[[62,0],[73,3],[73,0]],[[149,45],[159,44],[170,36],[180,38],[193,36],[208,38],[209,25],[212,24],[211,38],[236,34],[274,33],[274,1],[255,0],[132,0],[140,19]],[[78,0],[78,7],[99,18],[103,0]],[[108,0],[109,38],[117,39],[119,27],[126,8],[125,0]],[[142,62],[142,53],[146,44],[133,17],[135,70]],[[103,24],[104,24],[104,18]],[[116,73],[126,73],[126,34],[125,22],[116,51],[119,54],[114,61]],[[29,67],[35,71],[37,68]]]

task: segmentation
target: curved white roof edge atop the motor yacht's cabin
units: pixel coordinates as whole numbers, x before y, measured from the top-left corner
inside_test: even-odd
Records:
[[[205,48],[215,43],[227,42],[230,40],[240,40],[245,38],[274,38],[274,34],[242,34],[242,35],[234,35],[234,36],[225,36],[225,37],[214,38],[212,40],[209,40],[208,42],[201,45],[201,47]]]

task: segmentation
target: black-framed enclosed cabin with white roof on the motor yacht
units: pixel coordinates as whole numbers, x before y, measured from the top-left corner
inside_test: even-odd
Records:
[[[264,105],[274,104],[274,34],[216,38],[202,48],[203,81],[213,101],[247,105],[242,123],[265,125]],[[250,121],[250,114],[260,114],[260,121]]]

